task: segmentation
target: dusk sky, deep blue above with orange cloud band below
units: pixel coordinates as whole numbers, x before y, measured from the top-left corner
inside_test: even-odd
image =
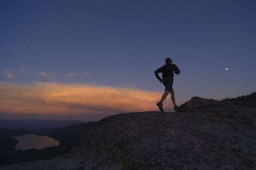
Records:
[[[8,0],[0,23],[0,119],[158,110],[167,56],[178,104],[256,91],[253,0]]]

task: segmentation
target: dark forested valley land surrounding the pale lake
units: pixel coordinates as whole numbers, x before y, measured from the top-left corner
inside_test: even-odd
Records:
[[[93,124],[95,124],[95,122],[67,126],[62,129],[44,129],[37,132],[32,130],[1,129],[0,165],[19,164],[34,160],[51,159],[57,155],[67,153],[78,143],[80,138],[84,136],[86,131],[90,129]],[[54,138],[59,141],[59,146],[52,146],[43,148],[41,150],[15,150],[14,146],[18,143],[18,141],[11,137],[30,133]]]

